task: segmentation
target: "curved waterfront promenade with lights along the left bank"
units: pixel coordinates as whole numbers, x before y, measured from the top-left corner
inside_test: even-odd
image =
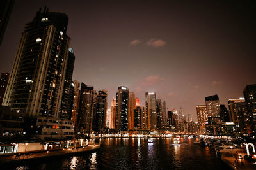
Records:
[[[48,157],[57,157],[57,156],[64,156],[64,155],[72,155],[81,152],[91,152],[93,150],[97,150],[100,148],[100,144],[90,144],[83,148],[68,148],[62,150],[54,150],[54,151],[47,151],[47,152],[26,152],[21,153],[19,156],[15,155],[6,155],[0,157],[0,164],[10,163],[10,162],[20,162],[24,160],[34,160],[34,159],[43,159]]]

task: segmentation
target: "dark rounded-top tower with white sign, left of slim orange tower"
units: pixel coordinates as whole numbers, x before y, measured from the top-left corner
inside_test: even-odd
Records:
[[[115,129],[118,131],[128,131],[128,109],[129,109],[129,89],[124,86],[118,87],[116,93],[116,120]]]

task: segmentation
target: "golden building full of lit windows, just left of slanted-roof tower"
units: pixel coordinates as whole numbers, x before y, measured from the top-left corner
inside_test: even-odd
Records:
[[[208,113],[205,105],[196,106],[197,119],[199,124],[200,133],[204,134],[205,124],[208,122]]]

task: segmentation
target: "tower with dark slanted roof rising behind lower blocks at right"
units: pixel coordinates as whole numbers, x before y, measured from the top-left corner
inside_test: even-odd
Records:
[[[218,95],[205,97],[208,117],[220,117],[220,101]]]

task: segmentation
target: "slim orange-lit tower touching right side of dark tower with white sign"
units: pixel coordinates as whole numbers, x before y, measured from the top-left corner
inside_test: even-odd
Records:
[[[134,92],[129,92],[129,104],[128,104],[128,129],[133,130],[134,127],[134,109],[136,105],[136,99]]]

